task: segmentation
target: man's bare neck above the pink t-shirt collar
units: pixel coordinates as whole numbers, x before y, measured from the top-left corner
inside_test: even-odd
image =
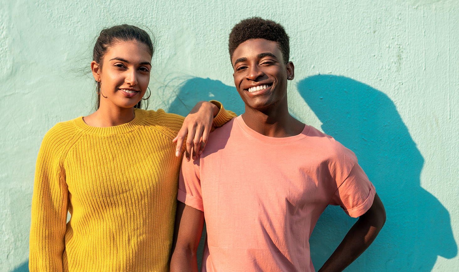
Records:
[[[246,105],[242,119],[252,130],[275,138],[295,136],[304,129],[304,124],[290,115],[286,105],[262,110]]]

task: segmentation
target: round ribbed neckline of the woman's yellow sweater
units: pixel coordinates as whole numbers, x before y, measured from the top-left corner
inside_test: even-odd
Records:
[[[144,124],[145,110],[134,109],[134,119],[122,125],[114,125],[109,127],[95,127],[84,123],[83,116],[75,119],[75,125],[80,131],[94,135],[113,135],[123,134],[134,131],[139,125]]]

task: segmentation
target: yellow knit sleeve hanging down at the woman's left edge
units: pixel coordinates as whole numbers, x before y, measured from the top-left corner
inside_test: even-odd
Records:
[[[62,147],[56,126],[46,133],[35,168],[30,227],[29,269],[31,272],[61,272],[69,193],[63,167]]]

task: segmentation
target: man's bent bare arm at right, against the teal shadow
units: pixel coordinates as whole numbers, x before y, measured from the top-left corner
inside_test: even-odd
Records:
[[[341,244],[318,272],[341,272],[375,240],[386,222],[386,210],[378,194],[373,204],[347,232]]]

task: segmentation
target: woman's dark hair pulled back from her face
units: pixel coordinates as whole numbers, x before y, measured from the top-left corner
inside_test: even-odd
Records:
[[[154,48],[151,42],[150,35],[145,30],[139,27],[130,25],[120,25],[110,28],[103,29],[97,38],[94,50],[92,53],[92,60],[95,60],[102,67],[102,60],[104,59],[107,49],[117,42],[137,41],[145,44],[150,50],[150,55],[153,56]],[[101,105],[101,84],[96,82],[97,103],[95,109],[99,109]],[[142,100],[134,106],[134,108],[140,108]]]

